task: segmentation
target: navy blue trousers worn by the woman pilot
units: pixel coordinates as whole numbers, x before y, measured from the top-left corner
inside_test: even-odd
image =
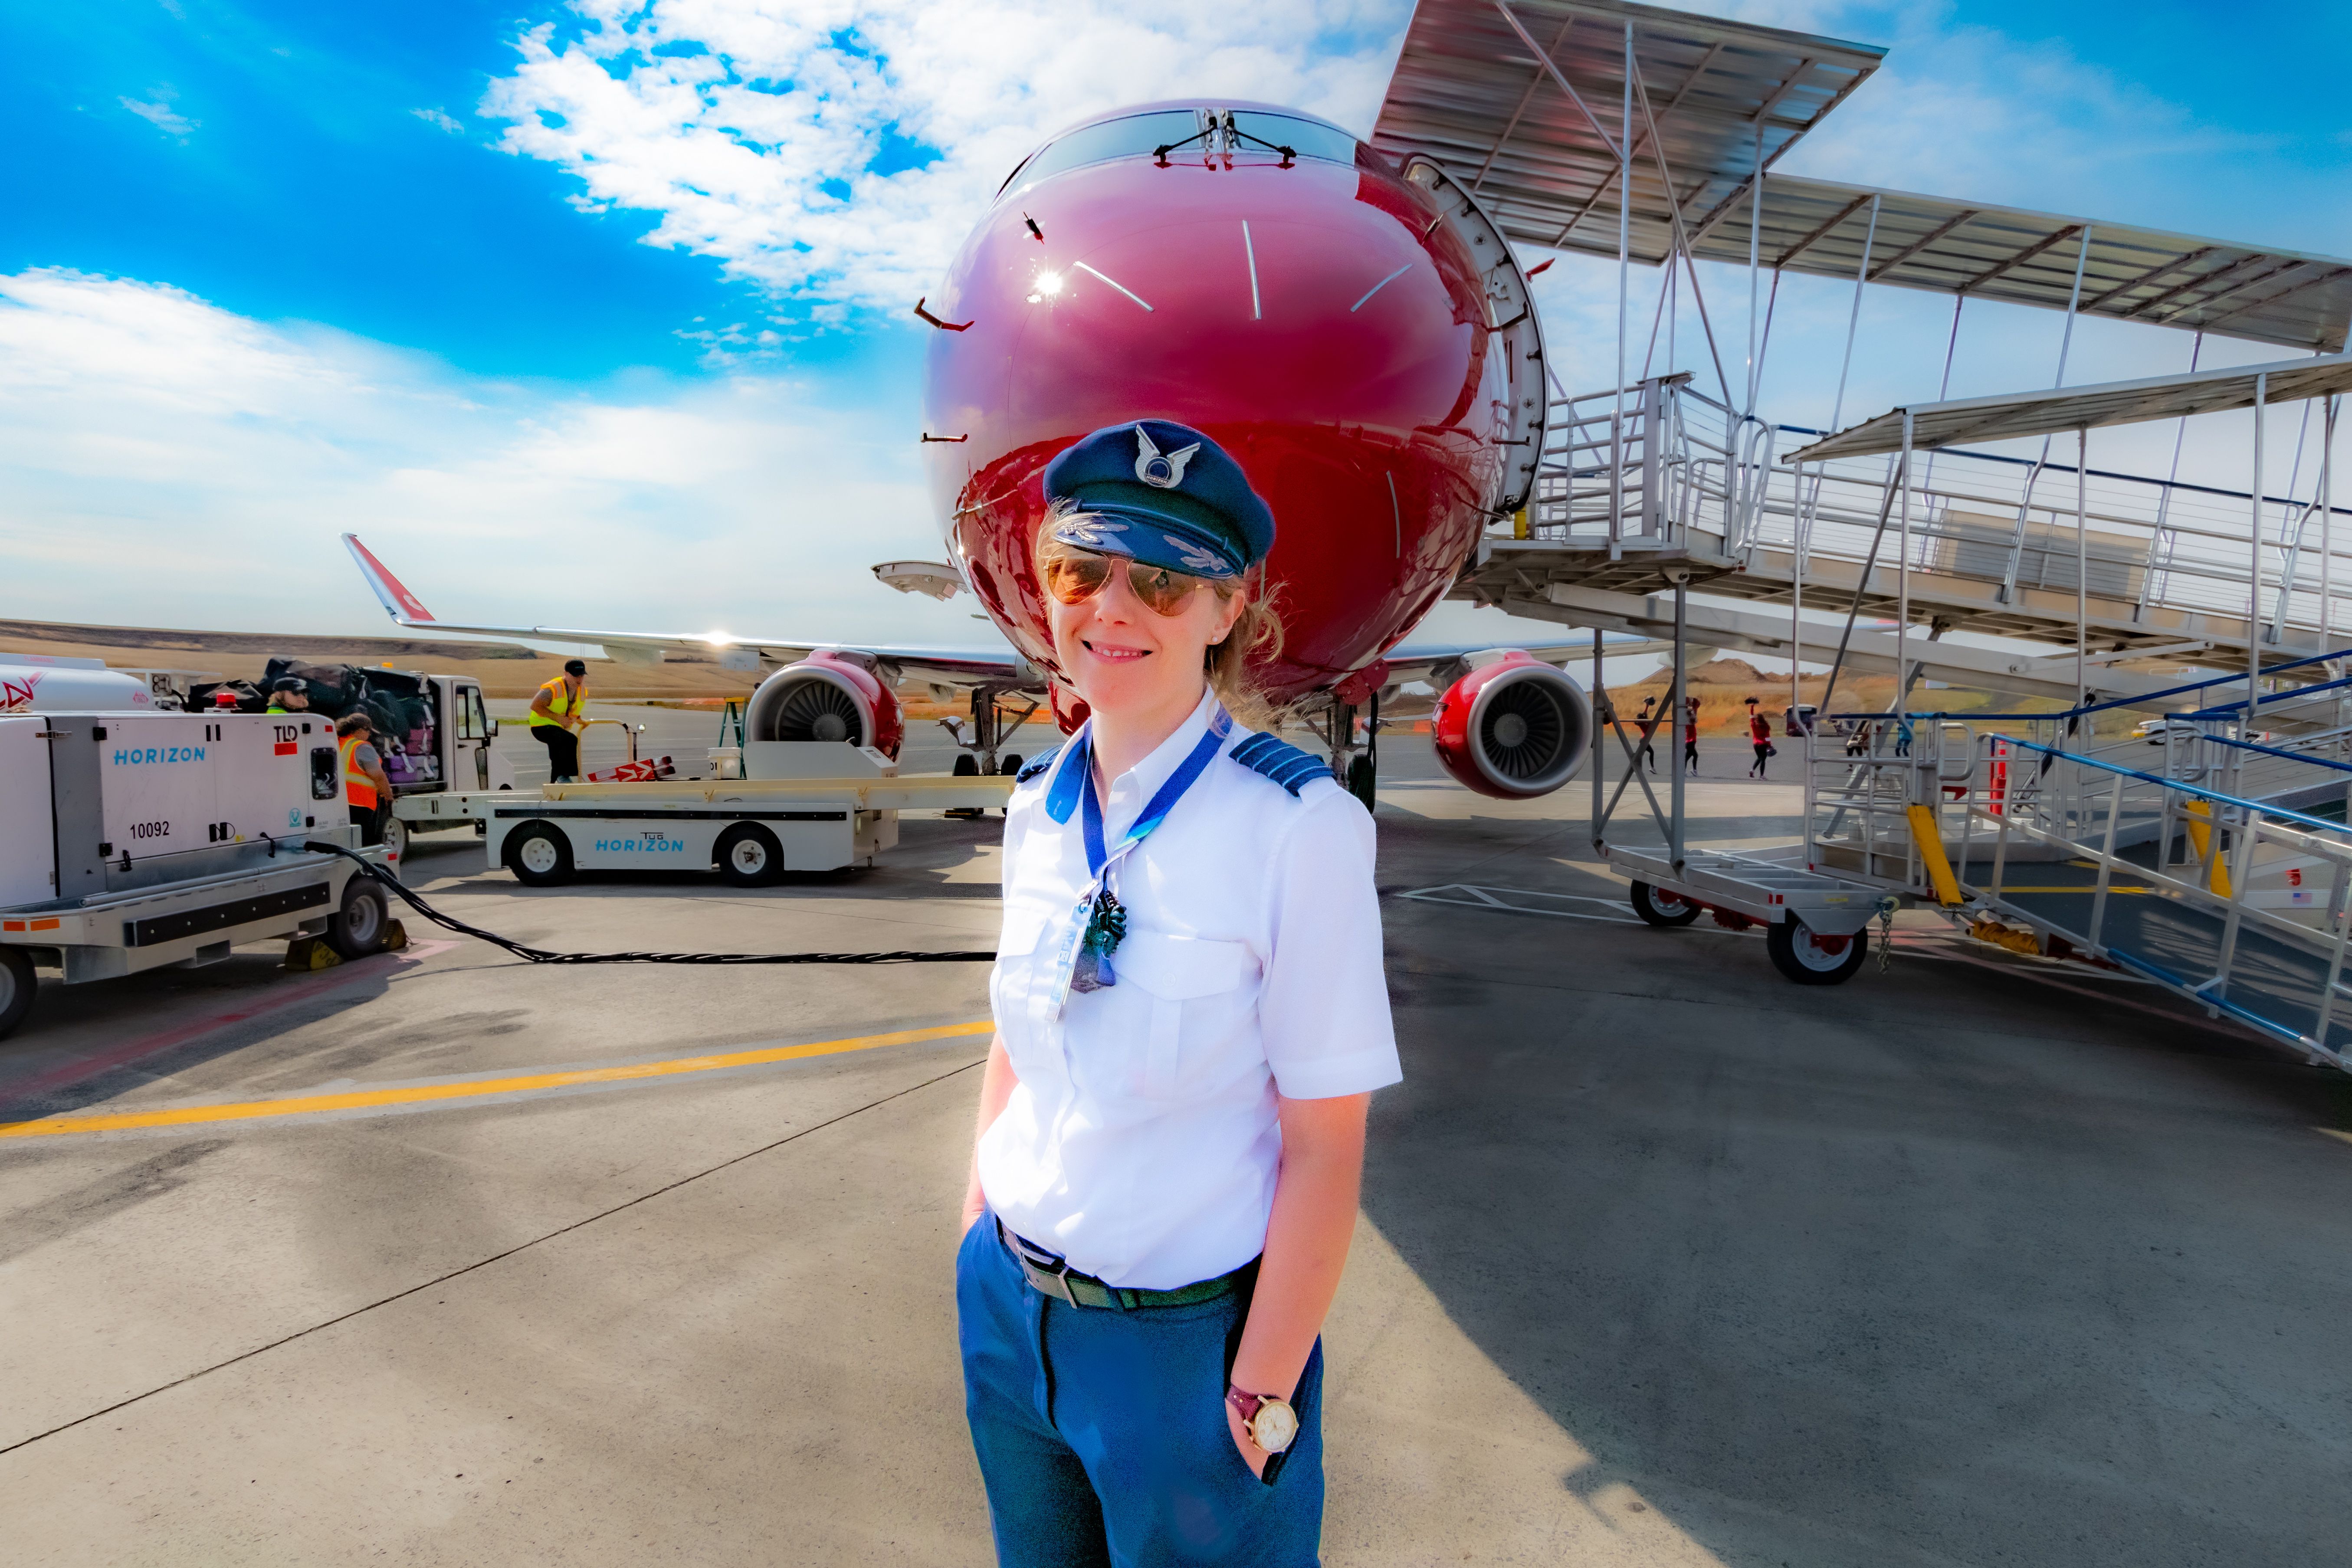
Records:
[[[1247,1295],[1110,1312],[1040,1295],[983,1215],[955,1258],[964,1413],[1002,1568],[1315,1568],[1322,1342],[1265,1483],[1225,1429]]]

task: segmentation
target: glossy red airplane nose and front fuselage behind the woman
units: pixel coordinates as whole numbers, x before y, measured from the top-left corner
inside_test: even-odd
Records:
[[[1115,146],[1115,125],[1077,136]],[[1131,136],[1124,155],[1016,176],[948,273],[938,315],[969,329],[931,336],[934,498],[988,614],[1047,668],[1030,571],[1042,473],[1103,425],[1207,430],[1272,508],[1287,644],[1263,682],[1277,698],[1411,630],[1496,503],[1505,369],[1468,247],[1388,160],[1289,125],[1352,162],[1155,158]]]

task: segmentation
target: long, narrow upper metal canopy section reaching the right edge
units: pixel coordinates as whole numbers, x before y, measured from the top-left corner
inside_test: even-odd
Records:
[[[2082,256],[2084,315],[2218,331],[2340,353],[2352,322],[2352,261],[2169,235],[2154,228],[2020,212],[1940,195],[1766,174],[1759,266],[1853,277],[1870,235],[1870,282],[2065,310]],[[1750,202],[1691,235],[1705,261],[1748,261]],[[2082,254],[2082,233],[2091,252]],[[1616,254],[1611,242],[1609,254]]]

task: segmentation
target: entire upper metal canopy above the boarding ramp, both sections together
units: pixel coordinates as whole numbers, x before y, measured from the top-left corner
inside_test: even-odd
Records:
[[[1508,12],[1496,0],[1421,0],[1371,143],[1397,158],[1435,155],[1522,244],[1616,256],[1611,141],[1623,136],[1625,24],[1639,85],[1630,254],[1646,266],[1672,254],[1675,214],[1700,259],[1748,261],[1762,127],[1762,266],[1853,277],[1877,197],[1870,282],[2063,310],[2089,228],[2079,303],[2089,315],[2345,348],[2352,261],[1771,174],[1877,71],[1884,49],[1872,45],[1621,0],[1508,0]]]

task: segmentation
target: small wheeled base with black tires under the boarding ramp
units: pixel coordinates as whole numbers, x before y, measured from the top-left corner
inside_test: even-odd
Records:
[[[1802,844],[1790,849],[1804,851]],[[1609,846],[1609,863],[1632,879],[1632,912],[1649,924],[1689,926],[1712,912],[1733,929],[1764,926],[1773,969],[1797,985],[1851,980],[1870,954],[1870,922],[1893,914],[1900,900],[1865,882],[1766,856],[1689,853],[1677,872],[1665,853]]]

